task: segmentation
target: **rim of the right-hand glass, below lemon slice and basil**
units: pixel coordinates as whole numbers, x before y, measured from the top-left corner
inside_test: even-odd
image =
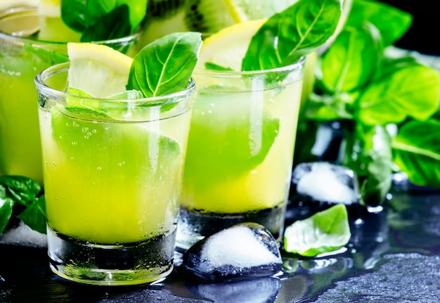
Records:
[[[209,70],[207,68],[196,67],[194,69],[195,74],[198,75],[208,75],[212,77],[224,77],[224,78],[235,78],[235,77],[243,77],[243,76],[259,76],[272,74],[276,72],[289,72],[292,70],[297,70],[300,68],[304,68],[304,63],[306,62],[306,56],[302,56],[295,63],[290,65],[285,65],[281,67],[275,67],[268,70]]]

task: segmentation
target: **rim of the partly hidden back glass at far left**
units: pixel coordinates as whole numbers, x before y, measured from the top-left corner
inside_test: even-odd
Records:
[[[0,20],[3,18],[6,18],[8,15],[12,15],[13,13],[21,13],[21,12],[27,12],[27,11],[36,11],[38,15],[38,8],[37,6],[17,6],[13,8],[6,8],[3,10],[0,10]],[[117,39],[109,39],[109,40],[101,40],[101,41],[91,41],[90,43],[93,44],[118,44],[121,42],[131,41],[134,39],[139,39],[141,36],[141,33],[136,31],[133,34],[129,34],[126,37],[117,38]],[[69,41],[50,41],[50,40],[44,40],[44,39],[33,39],[30,37],[20,37],[18,35],[14,34],[8,34],[7,32],[4,32],[0,29],[0,37],[5,37],[7,39],[13,40],[13,41],[21,41],[21,42],[27,42],[32,44],[46,44],[46,45],[53,45],[53,46],[64,46]]]

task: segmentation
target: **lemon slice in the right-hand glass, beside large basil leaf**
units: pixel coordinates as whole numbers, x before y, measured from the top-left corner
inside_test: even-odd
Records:
[[[209,62],[240,70],[252,36],[265,21],[266,19],[259,19],[240,22],[212,34],[203,41],[197,67],[204,68],[205,63]]]

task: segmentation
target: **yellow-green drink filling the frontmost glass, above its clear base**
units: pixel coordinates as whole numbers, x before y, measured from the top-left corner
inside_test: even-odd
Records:
[[[172,233],[189,112],[145,122],[39,109],[48,225],[100,244]],[[96,117],[95,117],[96,119]]]

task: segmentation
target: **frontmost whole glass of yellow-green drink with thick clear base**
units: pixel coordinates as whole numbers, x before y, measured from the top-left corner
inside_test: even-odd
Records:
[[[51,269],[72,281],[131,285],[173,268],[195,84],[176,94],[67,94],[70,63],[37,75]]]

